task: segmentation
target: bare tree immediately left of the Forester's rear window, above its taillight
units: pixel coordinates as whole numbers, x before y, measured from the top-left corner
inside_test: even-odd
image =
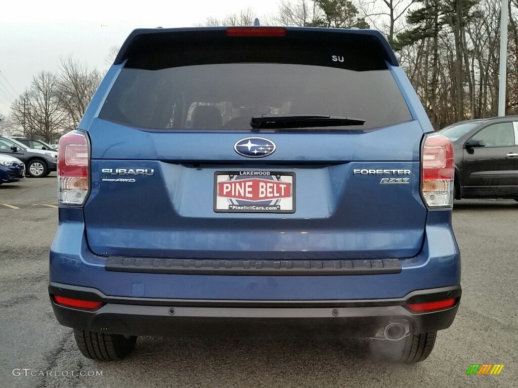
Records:
[[[89,69],[72,56],[61,60],[57,96],[60,108],[68,114],[74,127],[79,124],[102,78],[97,69]]]

